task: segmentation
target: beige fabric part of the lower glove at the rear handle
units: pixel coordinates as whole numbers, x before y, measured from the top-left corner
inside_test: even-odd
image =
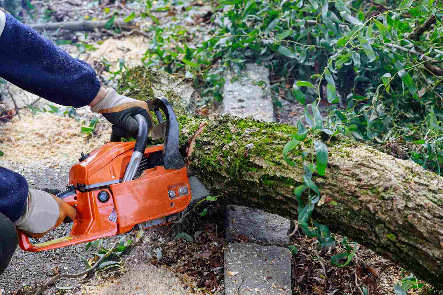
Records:
[[[28,233],[46,233],[57,223],[60,209],[54,197],[47,192],[30,189],[23,215],[14,222],[19,230]]]

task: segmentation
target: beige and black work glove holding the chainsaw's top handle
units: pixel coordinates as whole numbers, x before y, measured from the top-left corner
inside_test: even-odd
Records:
[[[138,124],[133,117],[137,114],[144,116],[148,122],[148,131],[151,130],[153,122],[148,103],[117,94],[113,88],[107,90],[108,94],[91,107],[91,111],[100,113],[113,124],[114,132],[122,137],[134,137],[137,134]]]

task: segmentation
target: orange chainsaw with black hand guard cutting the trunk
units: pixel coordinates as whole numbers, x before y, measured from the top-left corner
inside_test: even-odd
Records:
[[[31,244],[18,230],[21,249],[50,250],[166,225],[181,218],[191,199],[209,195],[195,176],[188,177],[171,104],[159,97],[148,106],[159,122],[151,138],[163,138],[163,144],[147,147],[148,122],[142,115],[134,116],[136,142],[121,142],[121,130],[113,126],[110,142],[82,153],[69,171],[66,190],[56,195],[77,211],[70,235]]]

